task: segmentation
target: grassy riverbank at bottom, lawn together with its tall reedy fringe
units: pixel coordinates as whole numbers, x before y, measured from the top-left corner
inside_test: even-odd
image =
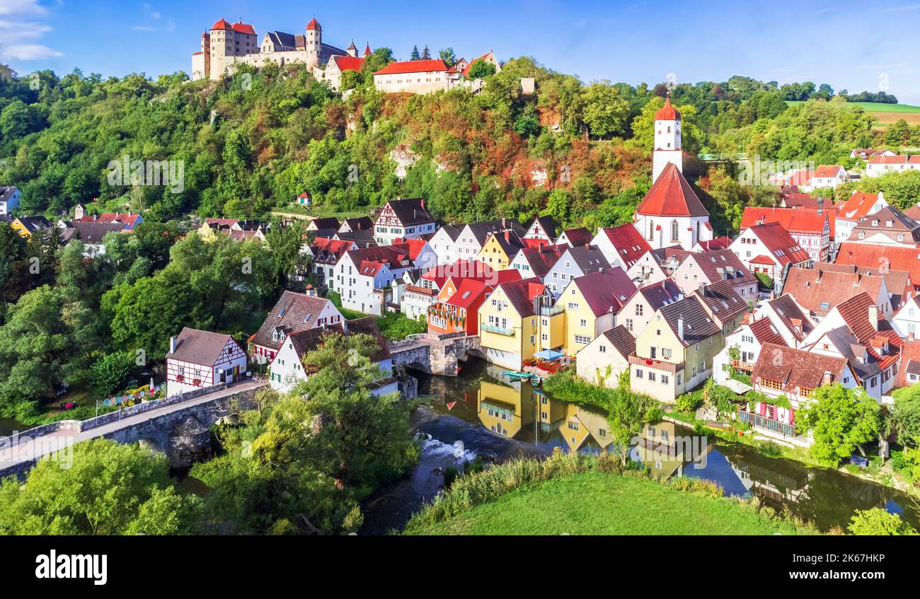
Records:
[[[454,480],[409,535],[799,535],[816,531],[697,479],[651,480],[610,456],[554,453]]]

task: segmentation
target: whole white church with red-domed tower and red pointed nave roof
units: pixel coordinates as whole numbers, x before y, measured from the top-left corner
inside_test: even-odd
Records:
[[[655,113],[652,185],[633,215],[633,225],[652,249],[680,245],[685,250],[712,240],[709,213],[684,178],[681,113],[671,96]]]

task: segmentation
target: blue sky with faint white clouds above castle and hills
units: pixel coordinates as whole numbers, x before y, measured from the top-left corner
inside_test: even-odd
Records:
[[[585,82],[742,74],[920,105],[920,0],[0,0],[0,62],[20,74],[190,73],[201,32],[221,17],[251,23],[259,40],[316,17],[327,43],[369,42],[397,59],[427,44],[434,55],[449,46],[466,58],[533,56]]]

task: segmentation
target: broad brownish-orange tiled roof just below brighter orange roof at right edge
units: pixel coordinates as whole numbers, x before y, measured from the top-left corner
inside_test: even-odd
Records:
[[[838,304],[867,293],[884,316],[891,316],[891,296],[885,277],[837,270],[796,268],[789,272],[785,295],[791,295],[809,312],[814,321],[822,321]]]

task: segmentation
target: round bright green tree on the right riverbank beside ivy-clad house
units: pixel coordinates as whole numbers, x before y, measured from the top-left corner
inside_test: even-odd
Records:
[[[811,399],[797,418],[799,432],[814,435],[811,457],[836,466],[854,449],[865,455],[863,444],[876,439],[881,428],[879,404],[864,390],[839,383],[820,387]]]

